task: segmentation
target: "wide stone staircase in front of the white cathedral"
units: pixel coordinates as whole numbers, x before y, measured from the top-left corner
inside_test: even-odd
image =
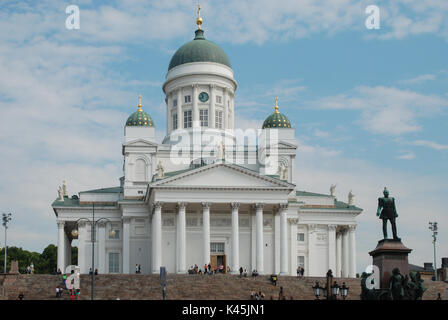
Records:
[[[61,283],[60,275],[0,275],[0,299],[15,300],[23,293],[26,300],[57,300],[56,286]],[[361,286],[359,279],[335,278],[338,284],[346,282],[350,287],[347,300],[359,300]],[[269,276],[239,278],[228,274],[167,276],[167,299],[169,300],[248,300],[251,291],[261,291],[265,299],[278,299],[283,287],[287,300],[314,300],[312,286],[325,278],[296,278],[279,276],[277,286],[269,281]],[[159,275],[97,275],[95,276],[95,300],[160,300],[162,288]],[[437,292],[445,298],[443,282],[426,282],[428,288],[424,299],[435,299]],[[80,300],[90,300],[91,277],[81,275]],[[62,300],[68,300],[67,291]]]

